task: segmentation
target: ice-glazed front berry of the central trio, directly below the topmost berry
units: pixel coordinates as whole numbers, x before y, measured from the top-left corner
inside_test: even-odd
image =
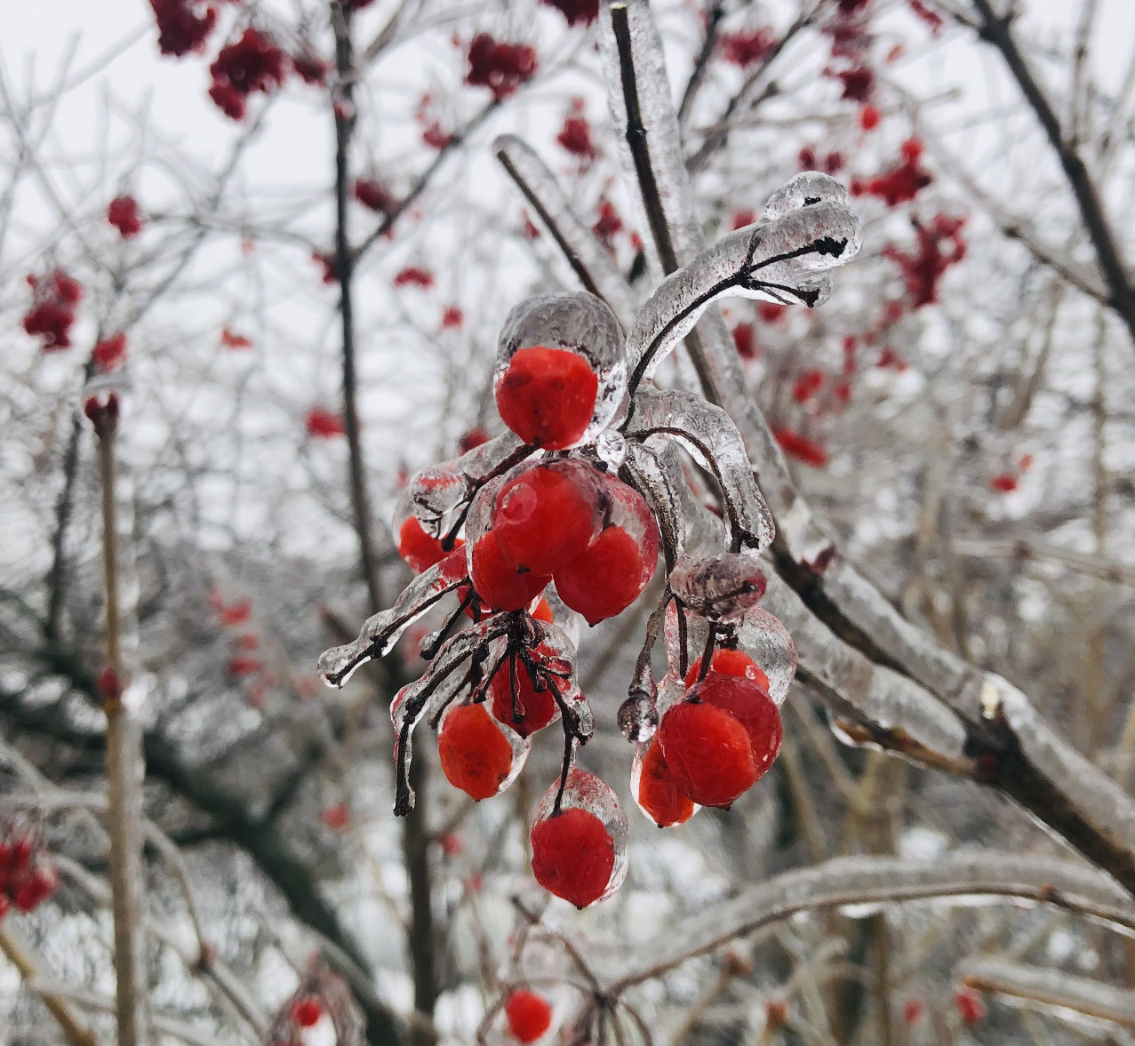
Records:
[[[519,570],[552,574],[598,535],[606,505],[603,473],[588,462],[526,462],[502,478],[491,529]]]

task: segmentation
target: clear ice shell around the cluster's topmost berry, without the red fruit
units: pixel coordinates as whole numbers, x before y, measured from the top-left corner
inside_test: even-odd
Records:
[[[553,449],[589,442],[611,423],[627,394],[627,360],[619,320],[605,302],[586,290],[540,295],[515,305],[505,318],[497,339],[494,388],[498,404],[514,357],[537,346],[568,351],[587,363],[595,379],[590,417],[577,436],[569,438],[565,435]],[[550,397],[548,408],[557,410]],[[502,407],[502,417],[504,415]],[[507,417],[505,421],[511,427]],[[520,432],[520,429],[514,431]],[[552,448],[550,444],[544,446]]]

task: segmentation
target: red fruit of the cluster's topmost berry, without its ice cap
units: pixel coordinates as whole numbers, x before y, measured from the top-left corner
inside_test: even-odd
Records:
[[[564,450],[578,442],[595,413],[599,379],[566,348],[520,349],[496,382],[497,410],[526,444]]]

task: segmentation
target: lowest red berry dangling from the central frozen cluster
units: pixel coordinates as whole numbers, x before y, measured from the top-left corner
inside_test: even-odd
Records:
[[[579,807],[532,825],[536,881],[577,908],[587,908],[607,889],[615,867],[615,844],[599,818]]]

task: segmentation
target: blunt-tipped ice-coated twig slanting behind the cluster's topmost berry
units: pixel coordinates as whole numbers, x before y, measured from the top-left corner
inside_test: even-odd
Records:
[[[611,254],[568,202],[552,171],[515,135],[501,135],[493,143],[493,152],[552,234],[579,281],[603,298],[629,328],[638,302]]]

